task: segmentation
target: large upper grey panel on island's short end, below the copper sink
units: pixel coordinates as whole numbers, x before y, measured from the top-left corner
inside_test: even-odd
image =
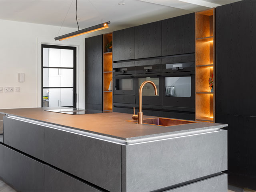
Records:
[[[122,154],[122,189],[158,190],[227,170],[227,131],[122,146]]]

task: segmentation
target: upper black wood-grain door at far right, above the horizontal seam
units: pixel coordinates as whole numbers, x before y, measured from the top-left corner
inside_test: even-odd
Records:
[[[256,1],[216,8],[216,113],[256,116]]]

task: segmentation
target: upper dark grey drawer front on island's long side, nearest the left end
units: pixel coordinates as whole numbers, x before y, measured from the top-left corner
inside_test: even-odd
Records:
[[[4,117],[4,144],[44,160],[44,126]]]

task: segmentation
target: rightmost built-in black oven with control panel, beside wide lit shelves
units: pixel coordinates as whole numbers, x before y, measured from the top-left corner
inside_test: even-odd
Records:
[[[194,62],[163,64],[163,106],[194,108]]]

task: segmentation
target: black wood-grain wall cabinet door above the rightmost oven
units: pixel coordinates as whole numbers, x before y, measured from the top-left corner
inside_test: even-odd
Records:
[[[162,21],[162,56],[195,52],[195,14]]]

